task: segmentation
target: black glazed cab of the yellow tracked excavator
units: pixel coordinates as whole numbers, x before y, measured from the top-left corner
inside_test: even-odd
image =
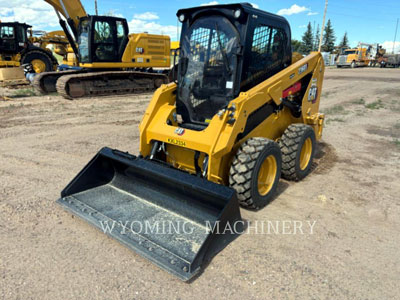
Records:
[[[128,23],[123,18],[81,18],[77,39],[80,62],[120,62],[128,43],[128,35]]]

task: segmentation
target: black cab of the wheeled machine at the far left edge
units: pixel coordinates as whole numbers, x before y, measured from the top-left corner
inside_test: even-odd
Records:
[[[7,54],[20,53],[27,47],[27,30],[32,26],[25,23],[0,23],[0,51]]]

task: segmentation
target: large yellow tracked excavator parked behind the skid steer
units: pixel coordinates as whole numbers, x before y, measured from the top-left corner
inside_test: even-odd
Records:
[[[169,82],[169,36],[129,34],[126,19],[88,15],[79,0],[45,1],[59,17],[77,66],[36,76],[40,92],[74,99],[152,91]]]

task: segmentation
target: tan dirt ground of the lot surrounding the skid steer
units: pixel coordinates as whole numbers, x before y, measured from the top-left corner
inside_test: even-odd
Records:
[[[243,234],[191,283],[55,203],[101,147],[138,152],[151,95],[29,94],[0,91],[13,97],[0,101],[1,299],[398,298],[400,70],[327,69],[313,173],[241,210],[251,222],[315,221],[313,234]]]

